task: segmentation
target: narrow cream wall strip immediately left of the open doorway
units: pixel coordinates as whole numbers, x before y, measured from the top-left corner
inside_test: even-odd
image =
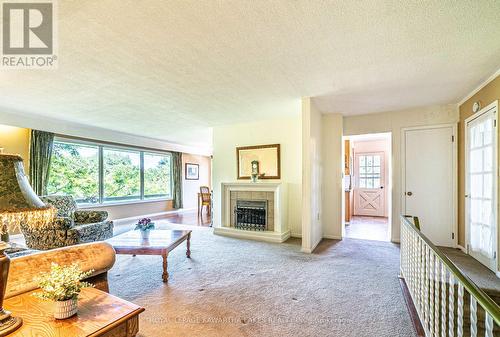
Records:
[[[343,143],[342,115],[324,114],[322,118],[323,138],[323,237],[342,237],[342,186]]]

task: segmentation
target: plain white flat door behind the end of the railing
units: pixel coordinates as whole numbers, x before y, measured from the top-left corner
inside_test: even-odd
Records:
[[[455,244],[455,129],[404,130],[403,212],[418,216],[435,245]]]

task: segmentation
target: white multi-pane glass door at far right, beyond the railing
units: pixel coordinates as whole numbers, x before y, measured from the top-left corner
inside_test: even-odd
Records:
[[[496,271],[496,107],[466,121],[466,206],[468,253]]]

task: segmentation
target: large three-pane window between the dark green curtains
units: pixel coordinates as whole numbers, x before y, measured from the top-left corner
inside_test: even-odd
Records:
[[[48,193],[79,204],[171,198],[169,153],[56,139]]]

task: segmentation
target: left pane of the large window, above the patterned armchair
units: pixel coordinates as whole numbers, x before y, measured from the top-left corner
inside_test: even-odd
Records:
[[[49,194],[71,195],[80,204],[99,202],[99,148],[54,142]]]

